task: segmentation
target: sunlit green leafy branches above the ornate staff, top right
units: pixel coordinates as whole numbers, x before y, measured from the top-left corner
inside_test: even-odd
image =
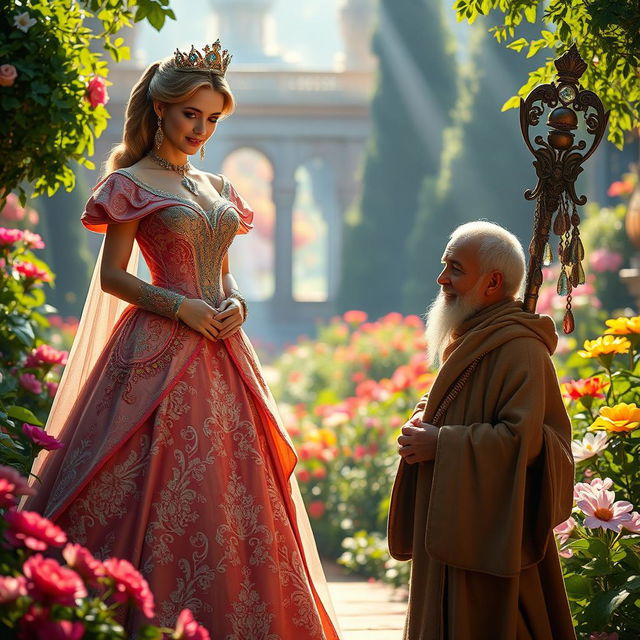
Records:
[[[524,21],[534,23],[538,7],[544,9],[544,27],[538,38],[513,39]],[[622,148],[624,134],[640,126],[640,3],[638,0],[456,0],[458,20],[474,22],[490,12],[502,14],[504,22],[490,29],[498,42],[527,57],[538,51],[552,54],[529,74],[529,80],[503,105],[515,108],[520,97],[555,75],[553,60],[575,41],[589,63],[581,83],[595,91],[607,109],[609,140]]]

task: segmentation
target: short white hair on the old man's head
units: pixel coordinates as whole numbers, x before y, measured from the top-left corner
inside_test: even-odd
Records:
[[[516,298],[522,289],[525,258],[516,236],[495,222],[477,220],[454,229],[449,244],[474,239],[478,241],[478,258],[482,273],[499,271],[506,296]]]

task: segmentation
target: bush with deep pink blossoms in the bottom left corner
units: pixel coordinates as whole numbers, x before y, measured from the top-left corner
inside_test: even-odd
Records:
[[[15,469],[0,465],[0,637],[3,640],[210,640],[189,609],[175,629],[152,624],[149,585],[127,560],[104,561],[67,539],[56,524],[18,511],[33,494]],[[126,611],[148,620],[125,629]]]

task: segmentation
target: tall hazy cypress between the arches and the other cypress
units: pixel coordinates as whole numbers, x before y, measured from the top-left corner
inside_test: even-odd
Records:
[[[381,0],[373,132],[363,191],[347,216],[339,306],[371,315],[397,309],[405,246],[426,175],[438,172],[456,96],[452,41],[439,0]]]

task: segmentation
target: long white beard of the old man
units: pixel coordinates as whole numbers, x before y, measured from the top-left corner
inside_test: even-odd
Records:
[[[478,283],[480,285],[481,283]],[[442,355],[449,344],[451,334],[468,318],[477,313],[482,305],[477,300],[474,287],[464,297],[456,296],[449,302],[442,290],[426,311],[427,364],[430,367],[442,364]]]

